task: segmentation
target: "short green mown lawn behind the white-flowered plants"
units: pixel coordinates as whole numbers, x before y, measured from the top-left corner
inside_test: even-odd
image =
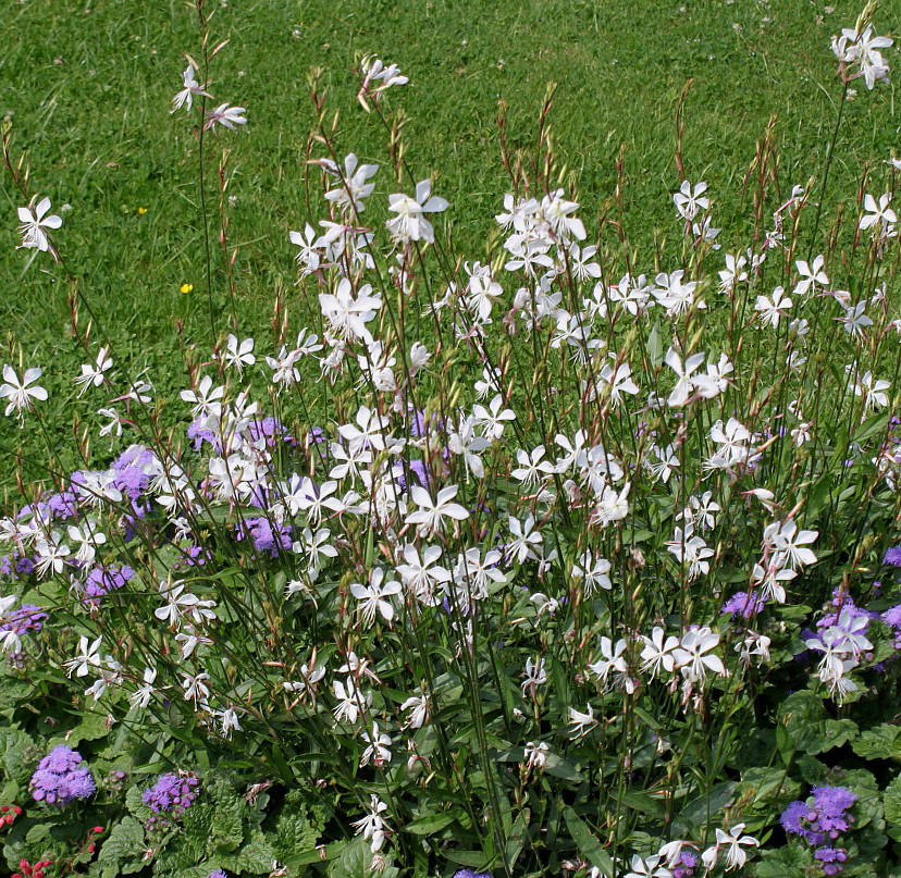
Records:
[[[311,66],[325,70],[341,108],[338,143],[379,163],[385,133],[354,99],[355,58],[374,52],[410,76],[411,86],[391,95],[408,116],[408,159],[421,177],[436,172],[435,193],[452,203],[447,221],[473,258],[484,256],[508,188],[498,100],[509,106],[510,146],[529,148],[547,84],[557,83],[551,127],[565,181],[593,215],[612,198],[625,148],[622,218],[639,265],[651,270],[654,242],[679,236],[669,194],[678,186],[675,107],[687,81],[686,172],[709,184],[715,225],[733,227],[746,214],[743,172],[772,114],[782,180],[805,183],[818,172],[840,95],[829,37],[857,12],[849,2],[799,0],[223,2],[212,26],[231,44],[215,59],[212,92],[245,106],[249,124],[219,137],[209,156],[214,171],[222,148],[232,150],[242,331],[257,337],[258,351],[274,344],[279,289],[303,322],[287,232],[325,215],[318,198],[308,206],[304,186]],[[901,7],[885,4],[876,22],[879,33],[897,34]],[[148,367],[159,395],[172,396],[185,381],[176,325],[185,345],[210,346],[194,120],[169,113],[183,52],[198,51],[196,13],[174,1],[27,0],[3,4],[0,42],[0,115],[12,119],[33,191],[54,209],[71,205],[59,240],[103,324],[91,338],[108,334],[133,373]],[[834,169],[849,198],[864,162],[898,146],[896,87],[864,91],[848,104]],[[51,429],[69,432],[92,416],[87,401],[74,404],[71,383],[86,358],[69,332],[60,272],[48,259],[23,271],[29,253],[14,249],[21,197],[9,178],[0,197],[3,359],[45,368]],[[224,309],[222,277],[214,280]],[[180,294],[183,283],[194,284],[190,295]],[[81,321],[85,330],[84,310]],[[4,447],[29,446],[12,422],[0,429]]]

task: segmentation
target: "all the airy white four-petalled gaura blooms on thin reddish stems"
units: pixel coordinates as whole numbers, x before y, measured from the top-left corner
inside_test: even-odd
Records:
[[[872,34],[843,39],[843,64],[881,69]],[[178,108],[209,98],[196,74],[185,71]],[[377,59],[363,76],[362,100],[406,82]],[[243,122],[222,104],[206,124]],[[608,743],[645,697],[668,705],[641,743],[664,765],[676,746],[666,722],[706,722],[720,695],[789,651],[767,605],[803,594],[829,551],[812,529],[816,492],[830,491],[824,449],[885,475],[874,492],[896,489],[897,444],[869,459],[866,436],[840,448],[834,412],[817,408],[835,371],[849,431],[888,423],[891,384],[868,356],[892,325],[886,288],[853,300],[834,288],[842,272],[826,255],[795,258],[800,187],[750,247],[718,253],[707,185],[684,181],[667,210],[691,258],[635,257],[613,273],[563,189],[508,194],[495,252],[446,260],[450,206],[431,180],[396,193],[355,152],[313,164],[325,219],[288,234],[296,341],[292,330],[266,351],[230,334],[174,397],[185,452],[127,446],[108,470],[79,471],[0,521],[28,576],[77,602],[83,625],[62,667],[95,701],[121,694],[136,714],[177,701],[221,737],[243,722],[266,733],[273,716],[317,724],[367,778],[397,777],[400,801],[398,753],[423,788],[453,771],[434,741],[483,677],[501,687],[491,746],[509,743],[521,778],[555,777],[569,745]],[[887,197],[863,207],[876,274],[896,217]],[[28,246],[54,227],[41,225],[46,210],[29,214]],[[816,371],[826,333],[830,368]],[[756,348],[765,358],[749,356]],[[103,347],[74,381],[79,395],[120,394],[99,428],[118,441],[134,423],[113,406],[152,397],[140,376],[116,386],[112,366]],[[47,398],[40,376],[5,367],[8,415]],[[122,546],[137,537],[151,561],[126,571]],[[123,613],[145,607],[135,638],[161,644],[158,656],[98,636],[116,594]],[[11,653],[24,636],[16,599],[0,597]],[[806,639],[812,683],[839,701],[873,650],[864,628],[839,609]],[[252,636],[254,661],[242,663],[235,631]],[[378,856],[387,805],[374,793],[365,803],[353,826]],[[757,841],[743,829],[730,823],[695,845],[708,871],[744,865]],[[686,846],[618,866],[666,878]]]

